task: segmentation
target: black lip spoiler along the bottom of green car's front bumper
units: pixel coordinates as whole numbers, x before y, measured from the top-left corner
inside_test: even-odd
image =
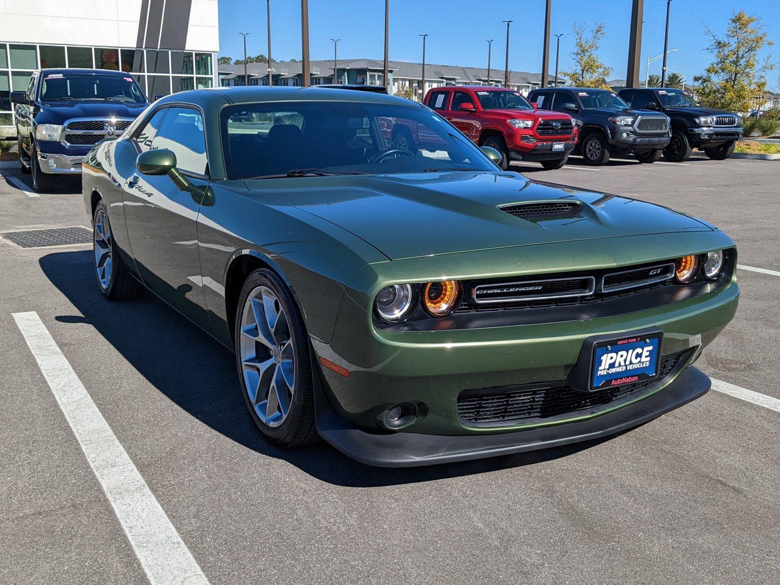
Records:
[[[675,381],[647,398],[594,418],[526,431],[454,436],[365,431],[339,417],[320,397],[317,431],[346,456],[367,465],[406,467],[454,463],[607,437],[658,418],[699,398],[709,389],[710,378],[689,367]]]

